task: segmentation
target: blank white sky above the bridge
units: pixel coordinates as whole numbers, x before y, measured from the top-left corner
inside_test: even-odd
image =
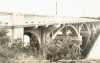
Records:
[[[99,2],[100,0],[0,0],[0,11],[56,15],[57,9],[59,16],[98,17],[100,16]]]

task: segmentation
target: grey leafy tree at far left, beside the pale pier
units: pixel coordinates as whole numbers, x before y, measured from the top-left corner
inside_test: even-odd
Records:
[[[7,63],[10,58],[14,57],[12,51],[8,48],[10,39],[7,33],[8,31],[5,29],[0,30],[0,62],[2,63]]]

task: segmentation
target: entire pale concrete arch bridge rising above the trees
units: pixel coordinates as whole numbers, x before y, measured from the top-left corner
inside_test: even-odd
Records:
[[[82,58],[86,58],[100,33],[99,25],[100,20],[90,18],[0,12],[0,29],[9,30],[12,42],[17,38],[24,42],[24,35],[27,35],[30,46],[36,44],[44,57],[50,42],[57,38],[71,38],[78,42],[76,46],[82,49]]]

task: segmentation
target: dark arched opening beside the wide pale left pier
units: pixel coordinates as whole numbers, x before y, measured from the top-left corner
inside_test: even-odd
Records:
[[[39,51],[40,48],[37,36],[31,32],[24,33],[24,45],[29,46],[33,51]]]

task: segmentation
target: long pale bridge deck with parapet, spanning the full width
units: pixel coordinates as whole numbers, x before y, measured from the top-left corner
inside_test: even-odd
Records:
[[[9,15],[9,16],[8,16]],[[1,23],[6,22],[6,23]],[[41,16],[33,14],[0,12],[0,27],[30,27],[35,25],[95,23],[100,20],[81,17]],[[10,24],[9,24],[10,23]]]

